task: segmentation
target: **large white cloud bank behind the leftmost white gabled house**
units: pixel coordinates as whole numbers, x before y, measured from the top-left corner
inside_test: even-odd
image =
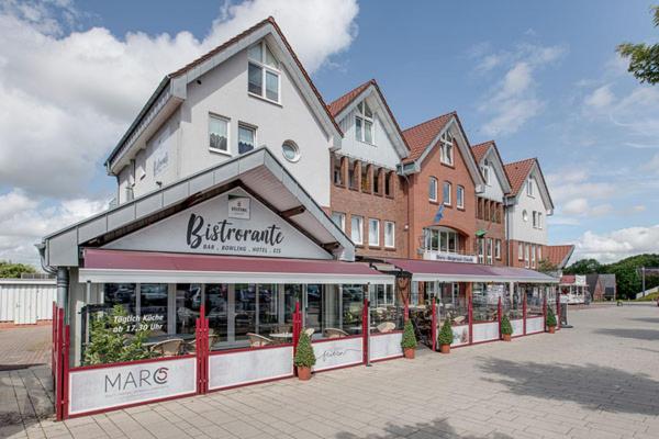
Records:
[[[161,78],[272,15],[308,71],[356,37],[356,0],[226,3],[203,38],[82,29],[70,0],[0,0],[0,258],[102,207],[90,181]]]

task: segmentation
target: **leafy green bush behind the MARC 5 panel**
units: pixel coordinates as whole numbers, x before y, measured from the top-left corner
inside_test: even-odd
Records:
[[[116,305],[110,312],[99,312],[91,317],[90,342],[85,349],[85,364],[108,364],[154,357],[143,346],[148,330],[138,330],[130,338],[122,330],[125,323],[118,322],[116,317],[127,315],[123,306]]]

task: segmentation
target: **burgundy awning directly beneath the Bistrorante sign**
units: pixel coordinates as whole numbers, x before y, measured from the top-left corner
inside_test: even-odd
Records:
[[[365,262],[87,248],[80,282],[393,283]]]

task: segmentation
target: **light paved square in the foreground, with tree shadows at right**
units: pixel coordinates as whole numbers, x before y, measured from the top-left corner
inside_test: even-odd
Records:
[[[152,404],[12,438],[659,438],[659,308],[572,329]]]

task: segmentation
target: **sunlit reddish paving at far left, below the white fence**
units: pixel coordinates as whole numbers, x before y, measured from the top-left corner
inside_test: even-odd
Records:
[[[51,363],[51,325],[0,328],[0,371]]]

